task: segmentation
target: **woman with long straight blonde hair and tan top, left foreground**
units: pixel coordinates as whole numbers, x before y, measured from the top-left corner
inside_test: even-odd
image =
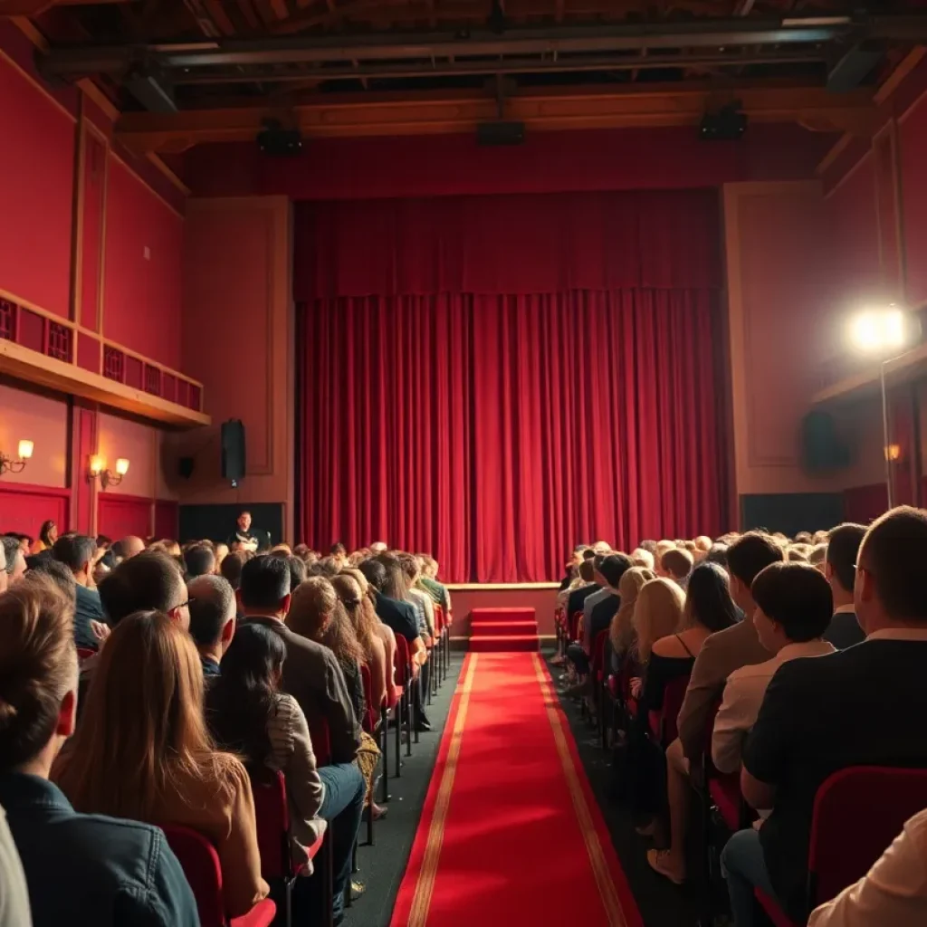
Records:
[[[136,612],[113,629],[52,780],[83,813],[180,824],[208,837],[230,918],[268,894],[248,773],[215,750],[197,648],[168,616]]]

